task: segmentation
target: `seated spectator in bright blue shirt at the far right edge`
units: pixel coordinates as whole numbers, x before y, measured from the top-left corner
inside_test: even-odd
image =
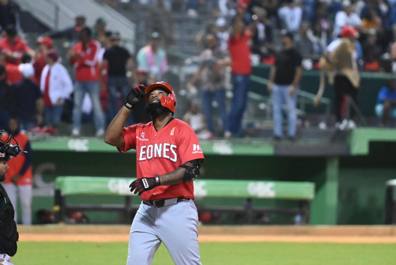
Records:
[[[388,127],[389,118],[396,118],[396,79],[389,79],[378,93],[375,114],[381,118],[383,127]]]

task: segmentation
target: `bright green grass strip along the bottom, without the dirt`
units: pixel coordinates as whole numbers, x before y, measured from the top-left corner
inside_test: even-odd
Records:
[[[127,243],[20,242],[15,265],[123,265]],[[396,244],[200,243],[203,265],[394,265]],[[173,265],[161,245],[153,265]]]

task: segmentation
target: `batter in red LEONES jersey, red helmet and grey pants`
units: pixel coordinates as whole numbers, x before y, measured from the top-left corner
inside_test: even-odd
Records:
[[[145,98],[152,121],[124,128],[133,106]],[[161,242],[176,265],[201,264],[193,180],[204,157],[194,131],[172,117],[175,108],[169,84],[139,85],[104,135],[104,142],[120,153],[136,149],[137,180],[129,187],[143,201],[132,222],[127,265],[151,264]]]

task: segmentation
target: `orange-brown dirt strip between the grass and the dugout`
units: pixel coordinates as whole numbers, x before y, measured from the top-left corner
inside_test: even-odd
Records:
[[[18,226],[19,241],[128,242],[129,225]],[[199,242],[396,243],[396,226],[205,226]]]

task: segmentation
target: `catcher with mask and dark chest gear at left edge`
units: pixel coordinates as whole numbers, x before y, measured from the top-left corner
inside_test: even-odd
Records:
[[[4,131],[0,131],[0,139],[3,134]],[[16,157],[20,154],[27,153],[22,152],[18,143],[11,145],[11,139],[13,138],[10,135],[5,141],[0,140],[0,181],[4,181],[5,179],[5,172],[8,169],[7,161],[10,157]],[[4,187],[0,184],[0,265],[13,265],[10,263],[10,257],[14,256],[16,253],[16,242],[19,238],[14,215],[14,207]]]

